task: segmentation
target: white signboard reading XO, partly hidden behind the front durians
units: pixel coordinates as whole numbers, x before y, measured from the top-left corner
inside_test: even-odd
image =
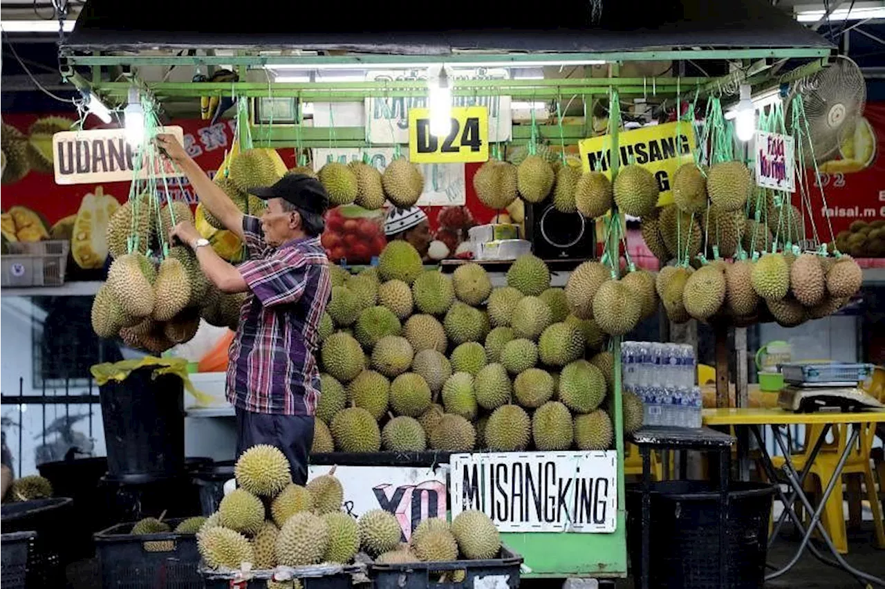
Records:
[[[308,481],[327,474],[329,466],[312,465]],[[403,466],[338,466],[335,478],[344,489],[343,509],[359,517],[372,509],[396,516],[404,541],[428,517],[445,519],[449,509],[445,470]]]

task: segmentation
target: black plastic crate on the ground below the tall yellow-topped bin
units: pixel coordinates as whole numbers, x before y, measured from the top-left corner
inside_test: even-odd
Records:
[[[181,521],[165,520],[173,529]],[[129,533],[133,525],[117,524],[94,536],[104,589],[203,589],[195,534],[134,535]]]

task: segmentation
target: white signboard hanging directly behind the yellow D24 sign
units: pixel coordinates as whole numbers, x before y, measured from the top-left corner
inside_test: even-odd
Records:
[[[454,70],[456,80],[507,80],[504,68]],[[367,80],[427,80],[427,70],[369,71]],[[427,98],[366,98],[366,135],[371,143],[408,143],[409,109],[427,107]],[[489,141],[509,142],[512,135],[510,96],[454,96],[452,106],[485,106],[489,109]]]

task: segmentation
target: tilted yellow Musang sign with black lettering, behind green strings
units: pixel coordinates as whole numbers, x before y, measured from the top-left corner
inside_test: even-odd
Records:
[[[578,144],[584,172],[603,172],[612,178],[612,137],[602,135]],[[658,206],[673,203],[673,173],[681,164],[694,161],[695,132],[690,123],[675,122],[643,126],[618,134],[620,165],[639,164],[658,180]]]

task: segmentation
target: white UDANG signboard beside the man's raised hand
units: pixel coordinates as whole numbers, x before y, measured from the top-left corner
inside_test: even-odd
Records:
[[[184,145],[180,126],[158,129],[159,133],[175,135]],[[151,148],[154,149],[154,148]],[[125,129],[91,129],[89,131],[62,131],[52,135],[52,161],[55,164],[56,184],[101,184],[133,180],[133,167],[138,161],[137,149],[126,141]],[[149,159],[154,169],[148,170]],[[181,176],[173,164],[157,157],[141,157],[140,179],[174,178]]]

